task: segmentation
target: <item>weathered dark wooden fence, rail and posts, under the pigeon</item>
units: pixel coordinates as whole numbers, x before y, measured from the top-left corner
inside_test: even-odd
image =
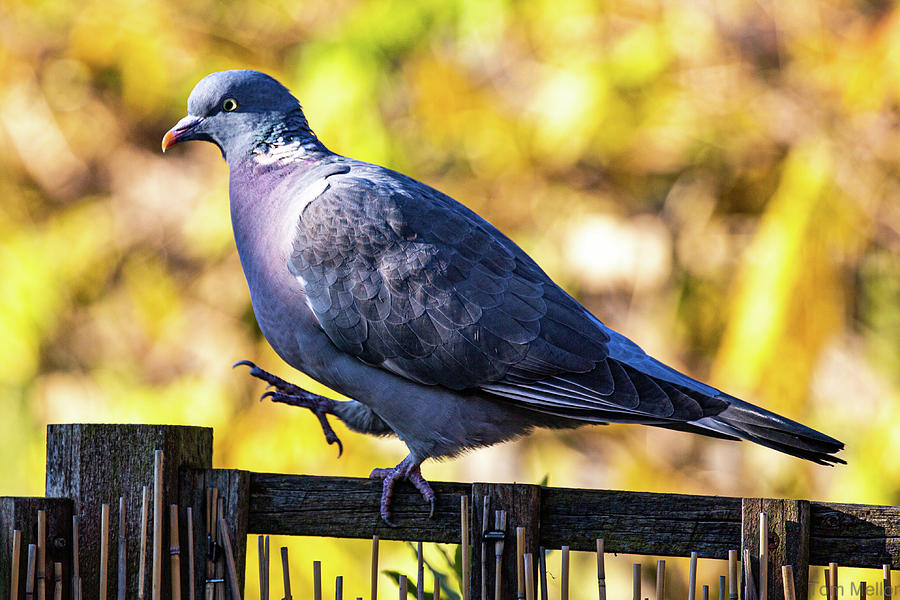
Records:
[[[23,548],[36,540],[38,510],[48,515],[48,562],[63,565],[63,581],[72,576],[72,516],[80,520],[80,573],[83,595],[97,597],[100,505],[116,507],[126,498],[126,597],[137,597],[141,486],[153,474],[153,451],[165,453],[164,504],[180,507],[180,530],[186,539],[187,507],[194,514],[194,586],[205,585],[209,541],[203,515],[206,490],[215,487],[223,500],[225,520],[234,543],[238,586],[243,573],[248,534],[303,535],[338,538],[420,540],[459,543],[460,497],[471,507],[469,542],[473,565],[481,560],[484,502],[490,510],[507,511],[509,520],[503,565],[504,597],[515,598],[515,528],[527,528],[526,551],[539,547],[593,551],[604,538],[607,552],[657,556],[725,559],[729,550],[749,549],[759,555],[759,514],[769,523],[769,597],[782,598],[780,565],[794,566],[797,597],[806,597],[809,565],[838,562],[845,566],[900,568],[900,507],[832,504],[806,500],[732,498],[583,490],[523,484],[433,484],[437,492],[434,516],[411,486],[401,486],[394,499],[397,527],[378,514],[381,482],[346,477],[315,477],[213,469],[212,430],[156,425],[51,425],[47,435],[47,498],[0,498],[0,600],[9,596],[12,531],[21,530]],[[114,508],[115,509],[115,508]],[[152,523],[151,513],[151,523]],[[118,518],[111,519],[110,548],[115,548]],[[488,529],[493,529],[493,522]],[[169,597],[169,523],[163,518],[166,552],[162,561],[162,597]],[[149,545],[149,543],[148,543]],[[182,541],[182,595],[187,598],[186,542]],[[493,544],[488,544],[493,564]],[[146,571],[151,573],[151,552]],[[23,557],[24,564],[24,557]],[[118,568],[116,552],[109,556],[110,573]],[[758,573],[758,565],[753,565]],[[45,572],[52,571],[52,564]],[[473,568],[471,598],[480,598],[481,570]],[[493,588],[493,570],[488,569]],[[115,597],[114,576],[107,597]],[[148,578],[149,582],[149,578]],[[148,584],[149,585],[149,584]],[[226,584],[227,585],[227,584]],[[24,582],[19,597],[24,598]],[[508,586],[508,587],[507,587]],[[70,586],[64,585],[64,598]],[[48,588],[52,584],[48,580]],[[476,593],[477,592],[477,593]],[[150,597],[149,592],[146,597]]]

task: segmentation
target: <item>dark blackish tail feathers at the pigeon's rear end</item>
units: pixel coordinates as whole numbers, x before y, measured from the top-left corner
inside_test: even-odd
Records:
[[[835,452],[843,450],[843,442],[734,396],[722,394],[719,398],[728,402],[725,410],[691,424],[710,432],[756,442],[820,465],[847,464],[847,461],[834,456]]]

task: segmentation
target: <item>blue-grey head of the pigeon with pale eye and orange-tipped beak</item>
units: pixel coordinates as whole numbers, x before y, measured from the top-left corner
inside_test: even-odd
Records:
[[[212,142],[229,160],[249,150],[261,132],[298,111],[300,103],[286,87],[259,71],[219,71],[194,86],[188,115],[170,129],[163,152],[189,140]]]

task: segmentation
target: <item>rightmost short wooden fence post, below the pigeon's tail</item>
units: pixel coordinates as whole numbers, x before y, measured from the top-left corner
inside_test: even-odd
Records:
[[[797,598],[806,598],[809,584],[809,501],[744,498],[741,503],[741,555],[750,551],[753,576],[759,585],[759,515],[769,522],[769,600],[784,600],[781,567],[794,567]]]

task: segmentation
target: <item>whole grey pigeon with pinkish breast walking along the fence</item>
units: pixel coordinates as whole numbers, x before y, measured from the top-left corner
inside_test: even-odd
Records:
[[[408,481],[430,503],[429,458],[535,428],[636,423],[749,440],[819,464],[843,443],[647,355],[453,198],[326,148],[274,78],[212,73],[162,141],[203,140],[228,163],[234,238],[253,311],[289,365],[349,400],[262,370],[263,394],[409,449],[382,479],[380,516]],[[348,118],[352,118],[348,116]]]

